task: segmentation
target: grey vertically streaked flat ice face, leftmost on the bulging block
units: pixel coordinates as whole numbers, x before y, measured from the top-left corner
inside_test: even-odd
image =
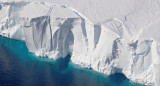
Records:
[[[46,49],[47,44],[50,43],[48,41],[52,39],[49,16],[33,18],[29,22],[26,20],[26,22],[29,25],[24,25],[24,34],[29,50],[35,52],[45,48],[45,51],[49,51],[51,47]]]

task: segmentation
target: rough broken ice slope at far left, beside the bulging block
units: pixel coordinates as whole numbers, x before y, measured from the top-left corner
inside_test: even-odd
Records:
[[[22,31],[23,20],[19,17],[21,7],[26,3],[6,3],[1,4],[0,10],[0,35],[13,39],[24,40]]]

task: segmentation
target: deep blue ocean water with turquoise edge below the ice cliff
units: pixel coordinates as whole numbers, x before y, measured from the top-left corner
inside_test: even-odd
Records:
[[[0,36],[0,86],[140,86],[123,74],[106,76],[70,62],[29,53],[22,41]]]

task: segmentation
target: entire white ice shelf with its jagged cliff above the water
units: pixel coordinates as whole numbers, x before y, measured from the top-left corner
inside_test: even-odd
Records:
[[[0,0],[0,35],[30,52],[160,85],[159,0]]]

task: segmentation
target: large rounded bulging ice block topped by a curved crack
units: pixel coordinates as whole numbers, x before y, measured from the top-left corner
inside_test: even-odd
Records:
[[[45,5],[31,3],[20,12],[29,51],[53,59],[86,53],[85,19],[65,6]]]

